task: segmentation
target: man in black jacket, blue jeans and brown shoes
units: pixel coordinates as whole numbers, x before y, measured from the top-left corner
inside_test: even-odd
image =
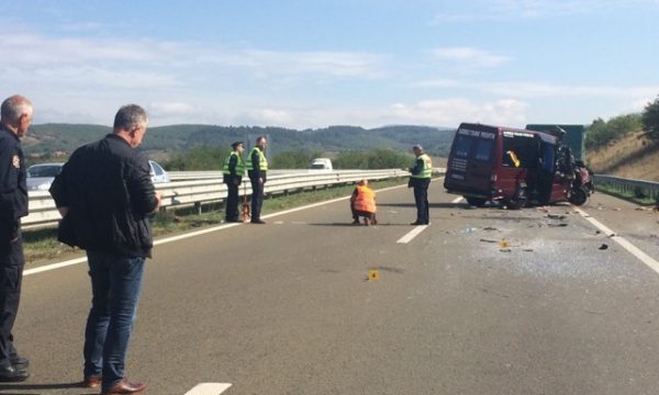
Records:
[[[112,134],[82,146],[51,185],[63,215],[58,238],[87,250],[91,309],[85,330],[85,385],[101,395],[138,394],[146,385],[124,377],[124,361],[150,258],[149,215],[161,196],[146,157],[137,149],[146,133],[146,111],[122,106]]]

